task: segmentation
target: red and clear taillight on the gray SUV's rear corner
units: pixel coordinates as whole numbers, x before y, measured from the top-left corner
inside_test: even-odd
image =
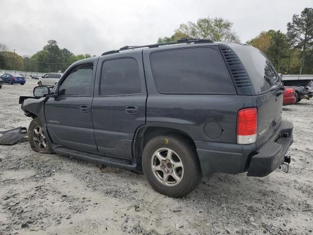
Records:
[[[256,131],[258,129],[257,108],[247,108],[239,110],[237,114],[237,143],[249,144],[256,141]]]

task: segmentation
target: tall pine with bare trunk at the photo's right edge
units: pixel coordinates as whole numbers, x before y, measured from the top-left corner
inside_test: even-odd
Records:
[[[301,66],[305,66],[306,51],[313,47],[313,8],[305,8],[301,15],[293,15],[292,22],[287,24],[287,36],[295,48],[301,49]]]

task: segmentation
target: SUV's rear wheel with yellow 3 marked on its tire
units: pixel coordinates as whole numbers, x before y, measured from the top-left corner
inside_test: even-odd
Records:
[[[169,158],[171,151],[172,158]],[[187,195],[202,178],[196,149],[180,135],[163,135],[150,140],[142,153],[142,169],[152,188],[170,197]]]

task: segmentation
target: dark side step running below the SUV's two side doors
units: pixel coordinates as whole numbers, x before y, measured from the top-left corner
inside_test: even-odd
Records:
[[[133,164],[132,161],[127,160],[127,159],[112,158],[112,157],[107,157],[107,156],[96,154],[96,153],[89,153],[89,152],[66,148],[66,147],[55,147],[53,151],[61,155],[71,156],[71,157],[79,158],[82,160],[97,162],[99,164],[110,165],[110,166],[115,166],[115,167],[120,167],[120,168],[124,168],[128,170],[136,171],[136,165]]]

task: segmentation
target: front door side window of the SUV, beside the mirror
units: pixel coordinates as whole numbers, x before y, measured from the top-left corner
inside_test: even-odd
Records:
[[[59,88],[60,95],[90,95],[93,64],[78,65],[70,71]]]

